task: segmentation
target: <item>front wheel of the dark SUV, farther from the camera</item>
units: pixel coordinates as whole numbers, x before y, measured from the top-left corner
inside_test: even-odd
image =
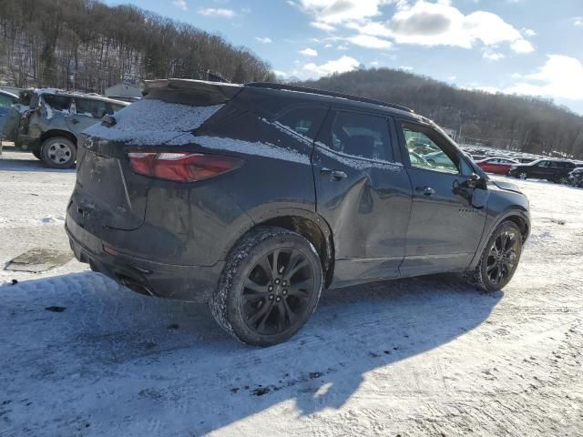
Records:
[[[482,252],[473,281],[486,291],[502,290],[517,271],[522,254],[522,234],[512,221],[502,222]]]

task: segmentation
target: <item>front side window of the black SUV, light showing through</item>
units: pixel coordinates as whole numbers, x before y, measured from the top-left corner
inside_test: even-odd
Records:
[[[443,140],[440,140],[441,138],[438,137],[436,132],[428,127],[409,123],[403,123],[402,127],[411,167],[431,169],[445,173],[458,172],[454,159],[446,153],[449,147],[447,147],[447,144]],[[419,147],[419,144],[423,144],[424,147]],[[414,154],[418,154],[423,159],[414,157]],[[464,173],[471,171],[469,166],[466,167]]]

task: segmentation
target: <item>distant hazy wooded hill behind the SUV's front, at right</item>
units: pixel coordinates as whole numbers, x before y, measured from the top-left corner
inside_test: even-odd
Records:
[[[458,133],[461,128],[458,142],[583,158],[583,117],[542,98],[470,91],[389,68],[357,70],[298,85],[411,107],[442,127]]]

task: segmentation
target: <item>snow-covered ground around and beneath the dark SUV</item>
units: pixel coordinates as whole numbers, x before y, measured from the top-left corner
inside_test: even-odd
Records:
[[[0,262],[66,249],[74,182],[5,149]],[[0,287],[0,435],[583,435],[583,189],[517,183],[533,229],[504,292],[451,275],[330,290],[270,349],[75,260],[0,270],[19,281]]]

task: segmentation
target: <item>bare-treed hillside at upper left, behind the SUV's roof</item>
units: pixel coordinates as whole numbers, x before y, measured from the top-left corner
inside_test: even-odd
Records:
[[[97,0],[0,1],[0,79],[103,93],[124,78],[273,80],[245,47],[131,5]]]

